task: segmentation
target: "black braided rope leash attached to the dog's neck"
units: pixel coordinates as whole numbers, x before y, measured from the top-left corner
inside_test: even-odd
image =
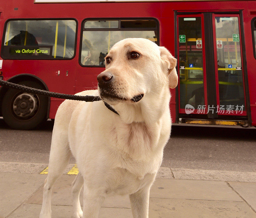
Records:
[[[68,95],[68,94],[62,94],[58,92],[52,92],[52,91],[45,91],[41,89],[31,88],[25,85],[15,84],[8,81],[0,80],[0,85],[5,88],[11,88],[16,89],[20,91],[25,91],[28,93],[33,93],[37,95],[43,95],[47,97],[53,97],[53,98],[62,98],[62,99],[69,99],[69,100],[77,100],[77,101],[86,101],[86,102],[93,102],[93,101],[101,101],[100,96],[92,96],[92,95]],[[103,101],[104,102],[104,101]],[[104,102],[105,106],[110,110],[119,115],[117,111],[111,107],[107,102]]]

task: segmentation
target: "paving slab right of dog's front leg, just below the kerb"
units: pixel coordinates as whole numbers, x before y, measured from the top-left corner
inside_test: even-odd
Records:
[[[180,179],[156,179],[150,197],[243,201],[226,182]]]

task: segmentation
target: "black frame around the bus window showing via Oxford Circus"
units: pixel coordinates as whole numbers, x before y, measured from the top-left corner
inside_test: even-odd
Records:
[[[3,57],[2,53],[4,50],[4,38],[5,38],[5,33],[7,29],[7,23],[12,20],[74,20],[76,22],[76,33],[75,33],[75,44],[74,44],[74,55],[71,58],[29,58],[29,57],[18,57],[18,58],[13,58],[13,57]],[[72,60],[76,56],[76,46],[77,46],[77,35],[78,35],[78,21],[76,18],[10,18],[7,19],[4,23],[4,30],[3,30],[3,36],[2,36],[2,44],[1,44],[1,51],[0,51],[0,56],[4,60]],[[43,46],[42,46],[43,47]]]

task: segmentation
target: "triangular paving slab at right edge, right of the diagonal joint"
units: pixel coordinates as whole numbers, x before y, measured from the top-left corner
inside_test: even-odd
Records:
[[[256,183],[229,182],[229,185],[256,211]]]

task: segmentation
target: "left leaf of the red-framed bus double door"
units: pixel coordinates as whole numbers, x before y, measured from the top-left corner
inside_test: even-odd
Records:
[[[206,114],[204,17],[178,15],[179,113]],[[202,107],[201,107],[202,106]]]

